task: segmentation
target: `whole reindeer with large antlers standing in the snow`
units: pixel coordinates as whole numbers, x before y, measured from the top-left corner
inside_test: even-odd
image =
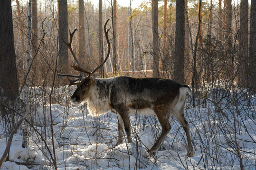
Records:
[[[186,93],[191,94],[188,85],[161,78],[133,78],[127,76],[95,78],[95,71],[103,66],[110,53],[110,42],[108,39],[110,28],[106,30],[108,21],[104,25],[104,34],[108,44],[107,55],[103,63],[91,72],[81,67],[72,50],[72,37],[76,29],[72,34],[69,31],[70,42],[67,43],[64,41],[78,64],[73,64],[72,67],[80,72],[79,76],[59,74],[59,76],[67,76],[67,78],[77,78],[76,80],[70,80],[68,78],[70,85],[77,85],[76,91],[71,96],[70,101],[73,104],[87,102],[89,110],[95,115],[103,114],[108,110],[117,113],[118,140],[115,146],[123,143],[123,129],[127,135],[127,142],[132,143],[130,114],[138,112],[144,115],[156,115],[161,124],[162,132],[155,144],[147,150],[152,155],[156,154],[160,144],[171,130],[169,117],[172,114],[178,119],[180,125],[185,130],[188,141],[187,156],[193,156],[195,152],[191,143],[190,128],[183,113]],[[86,73],[88,76],[83,77],[82,73]]]

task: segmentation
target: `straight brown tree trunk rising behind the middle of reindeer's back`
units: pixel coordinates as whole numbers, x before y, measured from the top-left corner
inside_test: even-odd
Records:
[[[152,0],[153,77],[159,77],[158,0]]]

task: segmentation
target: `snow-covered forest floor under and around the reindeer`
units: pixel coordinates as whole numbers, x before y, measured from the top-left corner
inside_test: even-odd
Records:
[[[216,89],[210,92],[215,93]],[[1,170],[54,169],[48,99],[41,96],[39,88],[35,93],[38,95],[34,99],[32,113],[36,129],[31,129],[29,146],[22,148],[22,130],[19,130],[13,138],[9,161],[3,163]],[[93,117],[86,111],[85,104],[70,105],[68,97],[71,93],[70,87],[59,89],[55,97],[62,102],[52,104],[58,170],[239,170],[233,115],[237,120],[237,143],[244,169],[256,169],[255,96],[237,94],[232,99],[232,93],[228,92],[229,95],[221,94],[217,100],[216,95],[208,93],[204,95],[209,100],[201,99],[202,104],[195,108],[189,96],[185,117],[190,124],[196,155],[187,157],[185,132],[176,119],[170,118],[171,131],[156,156],[146,153],[161,133],[161,126],[154,116],[131,116],[133,143],[114,148],[118,136],[116,114],[108,112]],[[232,104],[232,100],[236,104]],[[5,123],[0,120],[0,155],[7,141]],[[42,137],[45,136],[47,139],[43,142]]]

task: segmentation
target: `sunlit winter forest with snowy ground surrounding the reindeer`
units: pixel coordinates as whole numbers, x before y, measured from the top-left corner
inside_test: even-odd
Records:
[[[256,170],[256,0],[122,4],[0,0],[0,170]],[[163,130],[156,115],[136,109],[132,143],[123,130],[115,146],[118,113],[70,101],[86,78],[119,76],[190,87],[194,155],[173,113],[149,154]]]

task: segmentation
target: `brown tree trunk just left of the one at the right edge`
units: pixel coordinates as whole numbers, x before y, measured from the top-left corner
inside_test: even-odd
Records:
[[[239,30],[239,57],[238,57],[238,86],[247,87],[248,75],[246,69],[248,57],[248,0],[240,3],[240,30]]]

